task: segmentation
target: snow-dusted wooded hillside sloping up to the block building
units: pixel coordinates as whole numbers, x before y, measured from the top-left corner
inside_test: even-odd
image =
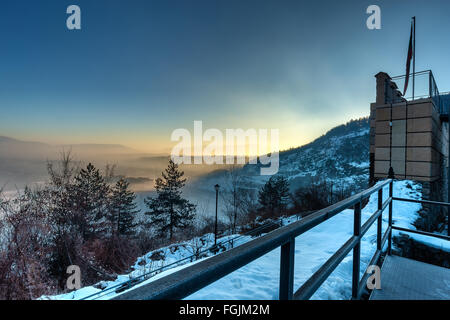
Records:
[[[341,186],[367,186],[369,177],[369,119],[352,120],[329,130],[313,142],[279,154],[278,175],[285,176],[291,190],[324,179]],[[270,176],[260,175],[261,165],[245,165],[242,170],[249,188],[259,188]],[[213,172],[195,181],[197,188],[211,189],[226,183],[224,170]]]

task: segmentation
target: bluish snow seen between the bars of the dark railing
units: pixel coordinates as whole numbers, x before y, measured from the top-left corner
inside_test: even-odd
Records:
[[[412,189],[406,187],[410,184]],[[398,181],[394,185],[394,196],[419,199],[419,185]],[[388,187],[383,190],[385,201]],[[370,197],[362,210],[364,223],[376,210],[377,194]],[[394,204],[395,205],[395,204]],[[415,220],[420,205],[402,203],[395,209],[394,222]],[[388,223],[387,210],[383,213],[383,230]],[[353,211],[345,210],[296,238],[294,288],[299,288],[320,266],[327,261],[353,234]],[[361,276],[376,250],[376,224],[361,241]],[[279,286],[280,249],[255,260],[247,266],[216,281],[187,299],[277,299]],[[351,295],[352,253],[341,262],[312,299],[348,299]]]

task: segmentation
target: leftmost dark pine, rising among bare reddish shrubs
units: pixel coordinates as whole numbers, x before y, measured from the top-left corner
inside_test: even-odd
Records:
[[[100,237],[106,231],[109,187],[91,163],[75,177],[71,192],[75,223],[83,239]]]

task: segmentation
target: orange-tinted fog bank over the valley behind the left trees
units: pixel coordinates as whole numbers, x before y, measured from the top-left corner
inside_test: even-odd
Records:
[[[138,199],[141,200],[154,190],[154,181],[161,176],[169,159],[169,155],[140,153],[122,145],[49,145],[0,136],[0,188],[14,192],[27,185],[45,183],[48,179],[47,162],[59,160],[62,152],[70,152],[73,160],[79,162],[81,166],[91,162],[104,171],[106,165],[114,165],[115,175],[127,178],[131,189],[138,192]],[[193,201],[197,199],[202,201],[201,199],[206,198],[206,202],[209,203],[209,198],[214,198],[214,183],[211,182],[211,186],[203,183],[190,185],[190,183],[198,182],[207,174],[220,172],[227,167],[227,165],[206,164],[181,165],[180,168],[185,172],[189,182],[185,190],[187,197]]]

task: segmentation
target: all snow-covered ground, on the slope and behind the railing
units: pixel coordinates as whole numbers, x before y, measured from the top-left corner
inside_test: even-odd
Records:
[[[383,190],[384,200],[388,196],[388,187]],[[420,199],[420,185],[412,181],[397,181],[394,183],[394,196]],[[393,209],[394,224],[415,229],[412,223],[418,217],[420,204],[395,201]],[[362,223],[364,223],[377,210],[377,194],[370,197],[369,203],[362,210]],[[285,223],[294,220],[286,220]],[[388,210],[383,213],[383,232],[388,223]],[[295,242],[295,272],[294,287],[298,288],[304,283],[336,250],[338,250],[353,234],[353,210],[345,210],[333,218],[321,223],[317,227],[309,230],[296,238]],[[414,236],[418,241],[430,243],[430,239]],[[207,247],[211,244],[211,235],[204,237],[206,242],[200,244]],[[226,239],[222,239],[226,240]],[[221,241],[222,241],[221,240]],[[243,237],[240,243],[251,240],[250,237]],[[162,248],[140,257],[133,266],[134,271],[129,275],[121,275],[116,281],[104,282],[103,287],[112,287],[118,283],[129,280],[142,274],[143,271],[154,270],[159,267],[158,263],[164,262],[165,265],[178,261],[182,258],[192,255],[193,248],[199,246],[200,239],[193,239],[190,242]],[[450,251],[448,241],[432,240],[433,246],[441,247]],[[365,271],[367,264],[376,250],[376,223],[369,229],[361,241],[361,276]],[[152,261],[150,257],[160,251],[165,257],[161,261]],[[207,258],[206,258],[207,259]],[[192,294],[186,299],[277,299],[279,283],[279,265],[280,249],[264,255],[263,257],[249,263],[241,269],[229,274],[228,276],[216,281],[215,283]],[[192,262],[192,263],[197,263]],[[154,277],[147,279],[139,284],[143,285],[156,279],[164,277],[172,272],[185,268],[192,264],[191,262],[158,273]],[[336,270],[329,276],[326,282],[314,294],[312,299],[348,299],[351,295],[351,277],[352,277],[352,253],[341,262]],[[50,299],[80,299],[92,293],[100,292],[95,287],[86,287],[80,290],[53,297],[43,297]],[[112,291],[101,299],[110,299],[116,296]]]

